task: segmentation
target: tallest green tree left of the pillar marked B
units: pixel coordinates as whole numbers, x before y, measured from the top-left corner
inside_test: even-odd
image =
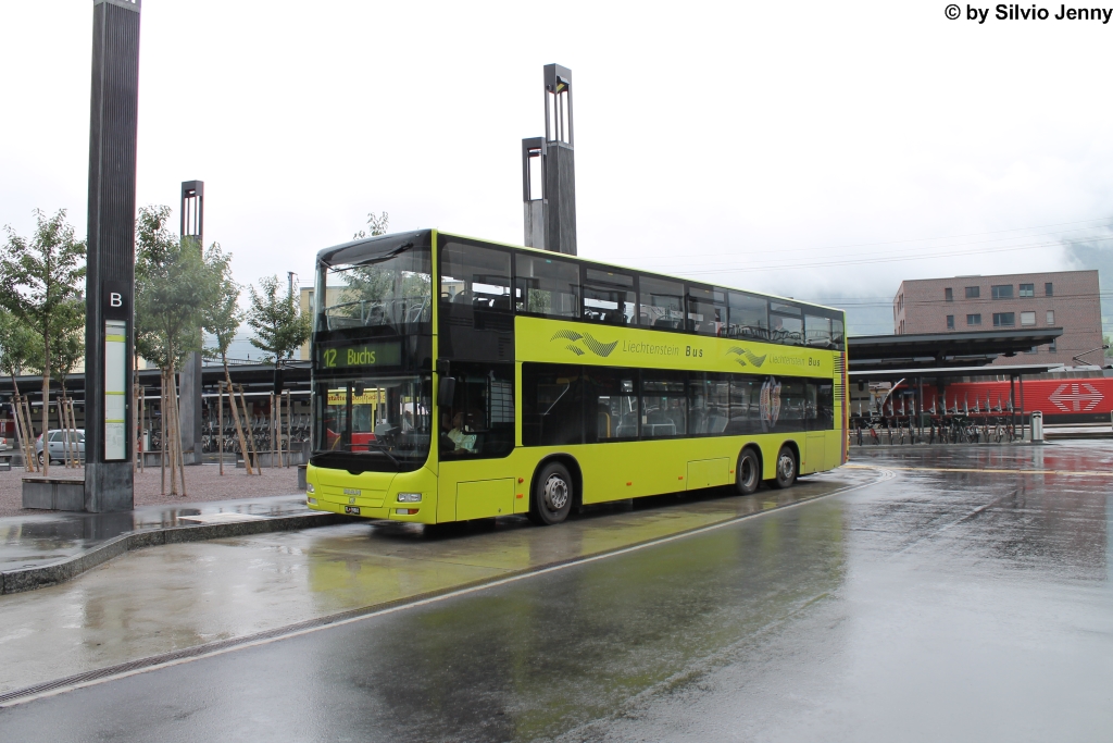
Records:
[[[72,319],[72,303],[80,301],[85,280],[86,243],[73,235],[66,222],[66,209],[48,217],[35,211],[37,226],[27,239],[6,226],[8,242],[0,254],[0,305],[12,312],[41,343],[42,431],[49,430],[51,342],[65,333],[66,319]],[[50,470],[50,458],[42,468]]]

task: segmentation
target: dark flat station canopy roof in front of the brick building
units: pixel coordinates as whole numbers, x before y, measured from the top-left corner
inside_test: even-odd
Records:
[[[848,372],[914,372],[986,366],[1001,356],[1015,356],[1037,345],[1046,345],[1063,334],[1062,327],[1032,330],[984,330],[951,333],[916,333],[906,335],[858,335],[847,338]],[[1024,364],[1033,366],[1025,374],[1037,374],[1061,364]],[[1035,368],[1040,368],[1036,370]],[[995,371],[1001,369],[1002,371]],[[978,370],[978,374],[1007,374],[1006,368]],[[1015,369],[1015,368],[1014,368]]]

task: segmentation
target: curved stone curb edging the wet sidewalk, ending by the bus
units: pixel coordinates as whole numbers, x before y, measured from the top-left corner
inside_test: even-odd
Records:
[[[278,516],[275,518],[235,521],[232,524],[198,524],[197,526],[176,526],[161,529],[144,529],[121,534],[102,545],[79,555],[73,555],[57,563],[37,565],[18,570],[0,573],[0,595],[18,594],[36,588],[46,588],[76,578],[98,565],[102,565],[124,553],[159,545],[175,545],[186,541],[205,541],[223,537],[243,537],[268,531],[294,531],[312,529],[334,524],[349,524],[354,519],[341,514],[303,514],[299,516]]]

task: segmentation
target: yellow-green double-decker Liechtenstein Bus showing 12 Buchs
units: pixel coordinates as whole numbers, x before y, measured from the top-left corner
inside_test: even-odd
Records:
[[[435,229],[322,251],[311,508],[441,524],[846,462],[839,310]]]

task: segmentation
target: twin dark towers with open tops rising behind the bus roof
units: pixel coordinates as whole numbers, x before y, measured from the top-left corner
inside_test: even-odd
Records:
[[[572,127],[572,71],[545,65],[545,136],[522,140],[522,198],[525,244],[575,255],[575,162]],[[541,195],[533,193],[541,167]]]

